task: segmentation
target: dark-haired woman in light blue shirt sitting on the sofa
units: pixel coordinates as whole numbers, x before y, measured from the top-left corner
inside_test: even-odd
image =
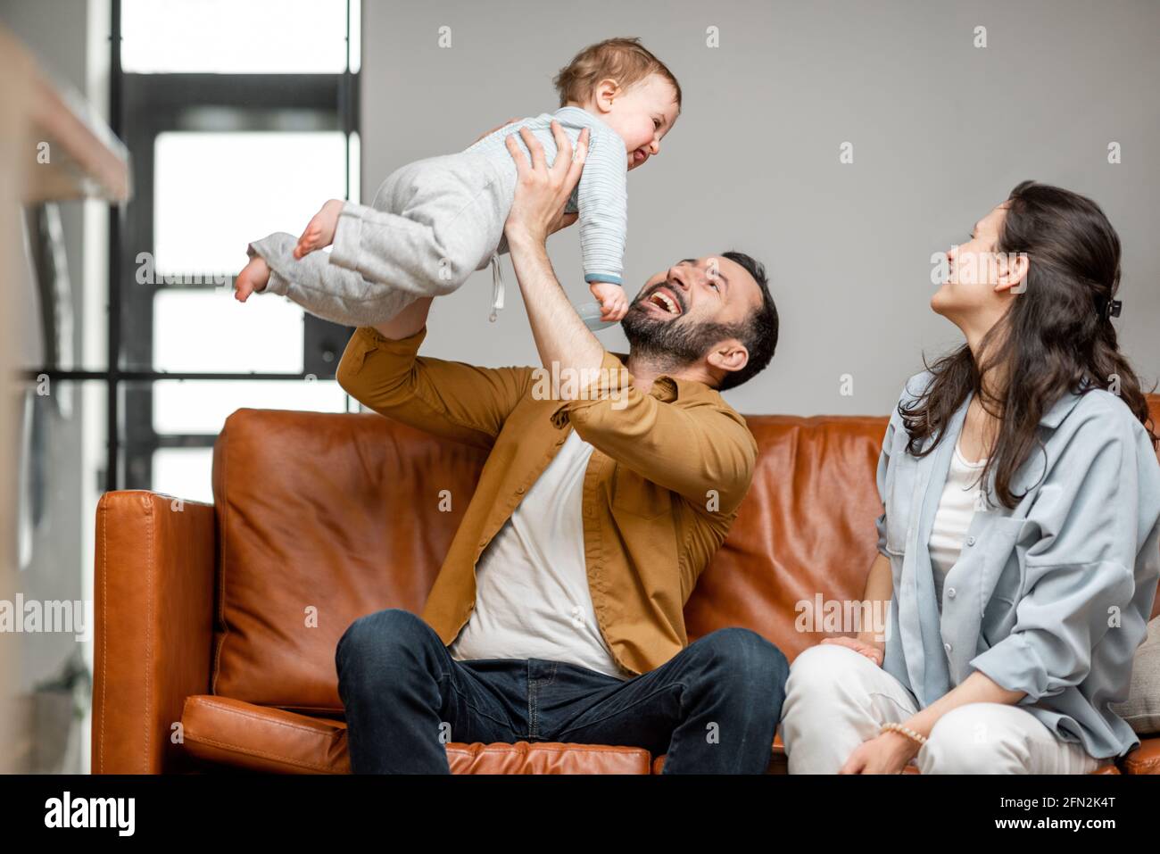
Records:
[[[790,671],[790,773],[1087,773],[1139,744],[1126,699],[1160,577],[1160,465],[1110,318],[1119,238],[1031,181],[949,253],[965,345],[912,377],[878,462],[868,600],[885,634]]]

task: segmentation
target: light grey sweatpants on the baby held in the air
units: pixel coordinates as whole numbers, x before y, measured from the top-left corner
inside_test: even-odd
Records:
[[[275,232],[249,244],[270,267],[262,294],[280,294],[325,320],[369,326],[419,297],[450,294],[493,265],[494,310],[503,307],[499,253],[512,198],[484,157],[459,152],[392,172],[371,207],[347,202],[329,253],[295,259],[298,238]]]

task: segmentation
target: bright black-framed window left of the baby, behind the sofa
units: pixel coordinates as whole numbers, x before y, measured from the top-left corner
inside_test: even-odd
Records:
[[[282,297],[238,303],[233,276],[248,241],[357,200],[360,6],[113,8],[113,122],[135,191],[110,229],[103,487],[212,500],[212,446],[234,410],[356,407],[334,381],[353,330]]]

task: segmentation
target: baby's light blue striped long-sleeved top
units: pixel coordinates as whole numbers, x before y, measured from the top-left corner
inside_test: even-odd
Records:
[[[619,133],[580,107],[561,107],[556,113],[542,113],[505,125],[473,143],[466,151],[491,159],[505,180],[503,191],[510,201],[515,196],[516,168],[505,138],[517,133],[520,128],[528,128],[544,146],[544,160],[551,166],[556,162],[556,138],[551,129],[553,118],[572,145],[575,145],[581,130],[589,129],[583,172],[565,207],[567,212],[579,215],[583,278],[586,282],[623,284],[624,246],[629,230],[629,152]],[[516,140],[530,162],[528,147],[519,136]],[[498,252],[507,252],[506,238],[500,241]]]

